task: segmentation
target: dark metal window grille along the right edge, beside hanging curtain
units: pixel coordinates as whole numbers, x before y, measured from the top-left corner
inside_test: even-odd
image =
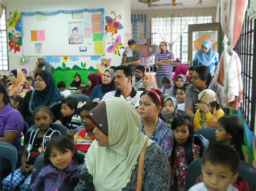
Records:
[[[254,39],[255,24],[254,19],[250,19],[246,12],[241,36],[234,48],[234,51],[238,53],[241,60],[241,75],[244,90],[241,112],[252,131],[254,130],[255,123],[256,96],[256,49],[254,49],[254,45],[256,47],[256,39]]]

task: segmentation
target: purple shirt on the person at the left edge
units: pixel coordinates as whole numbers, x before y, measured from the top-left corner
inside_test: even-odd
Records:
[[[3,137],[4,133],[8,131],[18,133],[18,137],[12,144],[17,148],[18,156],[20,156],[22,153],[21,132],[23,129],[24,119],[21,113],[18,110],[12,108],[11,104],[8,103],[0,112],[0,137]]]

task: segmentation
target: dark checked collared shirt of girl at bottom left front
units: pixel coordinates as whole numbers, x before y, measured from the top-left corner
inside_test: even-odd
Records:
[[[82,166],[76,164],[73,160],[62,171],[52,165],[47,165],[41,169],[30,188],[31,190],[49,191],[73,190],[78,183],[78,174],[81,170]]]

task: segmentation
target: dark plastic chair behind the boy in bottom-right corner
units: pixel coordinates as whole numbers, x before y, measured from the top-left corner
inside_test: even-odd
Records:
[[[203,158],[192,161],[190,166],[188,166],[185,190],[190,189],[194,185],[194,181],[201,174],[201,164],[203,164]],[[238,174],[248,182],[251,190],[256,190],[256,169],[254,167],[247,162],[240,160]]]

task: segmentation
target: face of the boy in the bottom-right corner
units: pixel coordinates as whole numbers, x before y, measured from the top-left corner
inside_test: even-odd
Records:
[[[203,181],[207,190],[226,190],[230,183],[237,180],[238,173],[233,174],[229,167],[221,164],[211,164],[205,162],[201,169],[203,173]]]

